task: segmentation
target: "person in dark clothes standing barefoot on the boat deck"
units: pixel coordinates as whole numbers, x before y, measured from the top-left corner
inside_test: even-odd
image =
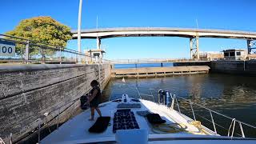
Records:
[[[99,88],[99,83],[96,80],[93,80],[90,82],[90,86],[93,87],[92,90],[90,90],[90,98],[88,102],[90,102],[90,121],[94,120],[94,110],[96,109],[98,112],[98,115],[102,117],[101,110],[98,109],[98,104],[100,102],[100,98],[102,96],[101,90]]]

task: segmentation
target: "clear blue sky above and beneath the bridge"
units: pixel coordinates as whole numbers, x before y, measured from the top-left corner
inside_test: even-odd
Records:
[[[0,0],[0,33],[24,18],[51,16],[77,29],[79,0]],[[256,31],[255,0],[83,0],[82,29],[98,27],[187,27]],[[189,58],[188,38],[107,38],[106,58]],[[96,40],[82,40],[82,49]],[[70,41],[68,48],[77,49]],[[245,40],[200,38],[201,51],[246,49]]]

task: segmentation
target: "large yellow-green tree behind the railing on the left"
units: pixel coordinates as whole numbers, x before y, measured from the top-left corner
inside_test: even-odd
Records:
[[[8,31],[6,34],[31,39],[33,40],[31,43],[41,42],[61,47],[65,47],[66,42],[72,38],[69,26],[65,26],[48,16],[24,19],[14,30]],[[24,48],[24,45],[17,45],[16,52],[22,54]],[[53,55],[54,50],[43,50],[39,49],[38,46],[31,45],[30,54]]]

